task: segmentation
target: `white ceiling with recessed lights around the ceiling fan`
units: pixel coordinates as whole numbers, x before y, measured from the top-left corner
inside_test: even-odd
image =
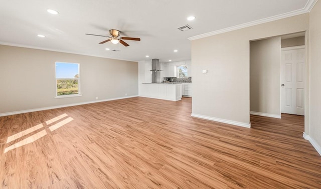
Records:
[[[189,37],[276,15],[306,12],[311,1],[314,0],[3,0],[0,44],[132,61],[187,60],[191,59]],[[60,14],[48,13],[49,8]],[[190,15],[196,19],[188,21]],[[177,29],[185,24],[193,29]],[[109,35],[111,28],[122,31],[121,36],[140,37],[141,41],[125,40],[129,44],[125,47],[120,43],[98,44],[107,38],[85,35]]]

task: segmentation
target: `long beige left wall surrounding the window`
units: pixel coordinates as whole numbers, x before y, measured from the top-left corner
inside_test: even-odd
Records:
[[[55,62],[80,63],[79,97],[56,96]],[[0,45],[0,113],[138,95],[138,64]]]

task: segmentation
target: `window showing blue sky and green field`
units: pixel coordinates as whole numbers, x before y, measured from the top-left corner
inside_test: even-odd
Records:
[[[81,96],[79,63],[56,62],[56,98]]]

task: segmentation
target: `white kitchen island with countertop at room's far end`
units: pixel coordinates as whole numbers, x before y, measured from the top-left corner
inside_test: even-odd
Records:
[[[142,83],[139,96],[178,101],[182,99],[181,83]]]

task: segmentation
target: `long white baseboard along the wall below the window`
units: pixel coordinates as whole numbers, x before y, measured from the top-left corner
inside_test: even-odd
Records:
[[[47,109],[55,109],[55,108],[61,108],[61,107],[68,107],[68,106],[74,106],[74,105],[83,105],[88,103],[96,103],[96,102],[103,102],[103,101],[110,101],[110,100],[117,100],[117,99],[124,99],[124,98],[131,98],[131,97],[137,97],[138,95],[132,95],[132,96],[122,96],[122,97],[116,97],[116,98],[108,98],[108,99],[101,99],[101,100],[94,100],[94,101],[85,101],[85,102],[79,102],[79,103],[70,103],[70,104],[63,104],[63,105],[55,105],[55,106],[49,106],[49,107],[40,107],[35,109],[26,109],[21,111],[12,111],[7,113],[0,113],[1,116],[7,116],[7,115],[15,115],[20,113],[29,113],[33,111],[42,111]]]

